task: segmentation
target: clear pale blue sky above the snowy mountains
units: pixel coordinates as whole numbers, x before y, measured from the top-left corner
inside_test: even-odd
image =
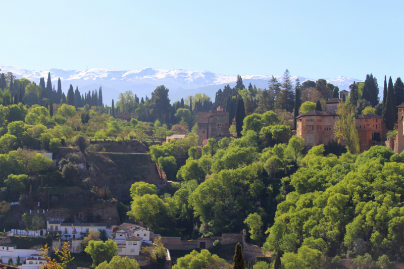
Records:
[[[0,1],[0,64],[404,76],[404,1]]]

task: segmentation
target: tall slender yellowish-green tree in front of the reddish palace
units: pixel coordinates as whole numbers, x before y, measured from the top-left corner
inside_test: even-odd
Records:
[[[347,150],[351,154],[359,154],[359,135],[355,117],[348,112],[343,102],[338,103],[337,115],[339,119],[334,126],[334,136],[344,140]]]

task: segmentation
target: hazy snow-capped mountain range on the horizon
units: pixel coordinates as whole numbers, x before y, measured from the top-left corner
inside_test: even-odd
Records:
[[[159,86],[165,85],[170,89],[169,98],[171,101],[180,100],[195,93],[206,93],[215,101],[215,93],[219,88],[226,84],[233,87],[236,84],[237,74],[232,76],[225,76],[215,74],[209,71],[190,71],[190,70],[163,70],[154,68],[143,68],[133,71],[117,71],[103,68],[91,68],[87,70],[64,70],[64,69],[50,69],[41,71],[30,71],[22,68],[15,68],[10,66],[0,65],[2,72],[13,72],[17,78],[27,78],[31,81],[39,83],[40,77],[47,78],[47,73],[51,72],[52,83],[56,84],[60,77],[62,81],[62,90],[67,93],[70,84],[78,89],[81,93],[89,90],[98,89],[99,86],[103,87],[104,102],[110,104],[114,98],[118,99],[118,94],[126,90],[132,90],[133,93],[139,97],[151,95],[151,92]],[[267,88],[268,81],[271,75],[241,75],[243,84],[248,87],[248,84],[256,85],[258,88]],[[281,76],[275,76],[281,80]],[[316,79],[293,76],[295,81],[299,78],[300,83]],[[319,79],[319,78],[317,78]],[[340,90],[346,89],[354,81],[363,81],[354,78],[337,77],[335,79],[324,78],[328,83],[338,86]]]

